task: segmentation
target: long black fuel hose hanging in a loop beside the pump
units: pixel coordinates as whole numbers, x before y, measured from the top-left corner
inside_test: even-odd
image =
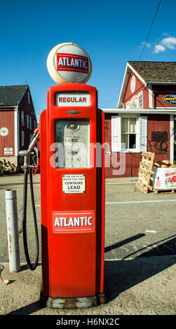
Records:
[[[30,165],[30,157],[29,157],[29,165]],[[36,222],[36,210],[35,210],[35,203],[34,203],[34,190],[33,190],[33,180],[32,180],[32,167],[29,166],[29,183],[30,183],[30,193],[31,193],[31,202],[32,202],[32,212],[34,218],[34,229],[35,229],[35,239],[36,239],[36,258],[34,265],[29,258],[29,251],[27,246],[27,178],[28,178],[28,171],[25,170],[24,174],[24,192],[23,192],[23,210],[22,210],[22,232],[23,232],[23,244],[25,249],[25,257],[27,260],[27,265],[29,269],[32,271],[36,269],[39,261],[39,235],[37,229],[37,222]]]

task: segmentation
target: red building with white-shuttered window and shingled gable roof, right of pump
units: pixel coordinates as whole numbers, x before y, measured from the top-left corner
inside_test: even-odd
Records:
[[[174,163],[176,62],[127,62],[117,109],[103,111],[106,178],[137,176],[142,151]]]

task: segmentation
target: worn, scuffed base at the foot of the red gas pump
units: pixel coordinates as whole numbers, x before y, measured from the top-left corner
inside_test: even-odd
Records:
[[[41,305],[53,309],[79,309],[105,304],[104,293],[88,297],[43,297],[41,292]]]

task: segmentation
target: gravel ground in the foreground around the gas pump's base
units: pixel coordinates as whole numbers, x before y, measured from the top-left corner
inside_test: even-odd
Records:
[[[82,309],[49,309],[39,304],[41,265],[10,273],[4,263],[0,282],[0,315],[175,315],[176,256],[106,260],[104,291],[107,303]]]

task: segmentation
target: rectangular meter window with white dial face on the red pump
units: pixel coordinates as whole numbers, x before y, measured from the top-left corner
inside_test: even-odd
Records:
[[[56,120],[57,168],[90,167],[89,120]]]

